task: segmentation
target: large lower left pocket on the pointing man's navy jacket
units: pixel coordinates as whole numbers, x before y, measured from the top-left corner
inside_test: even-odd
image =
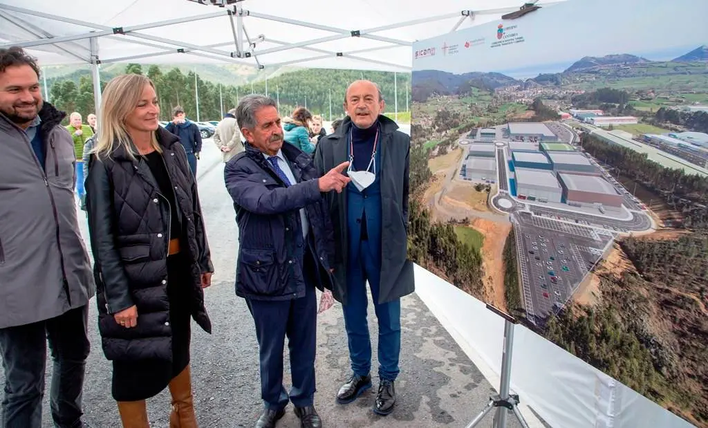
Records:
[[[282,294],[278,280],[278,264],[272,249],[241,249],[238,281],[244,293],[257,295]],[[279,293],[280,292],[280,293]]]

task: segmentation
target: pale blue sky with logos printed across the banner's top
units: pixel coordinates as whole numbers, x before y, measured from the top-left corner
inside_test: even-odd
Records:
[[[561,72],[581,57],[628,53],[648,60],[670,60],[708,45],[706,0],[571,0],[523,18],[486,23],[413,45],[413,70],[506,72],[535,77]],[[492,47],[503,24],[522,43]],[[516,28],[510,27],[516,26]],[[481,39],[484,38],[484,41]],[[470,42],[465,47],[465,42]],[[457,53],[445,46],[458,45]],[[435,55],[416,51],[435,47]],[[447,54],[445,53],[447,52]]]

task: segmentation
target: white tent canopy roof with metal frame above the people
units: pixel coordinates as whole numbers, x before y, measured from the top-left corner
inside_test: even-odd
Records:
[[[241,0],[219,7],[198,0],[0,0],[0,45],[23,45],[42,65],[93,58],[410,71],[414,41],[495,21],[521,4]],[[98,36],[94,50],[92,35]]]

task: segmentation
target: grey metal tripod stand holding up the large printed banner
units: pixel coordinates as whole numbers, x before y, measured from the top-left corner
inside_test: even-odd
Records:
[[[479,422],[494,408],[496,408],[496,415],[494,415],[494,428],[506,428],[506,416],[508,410],[511,410],[519,421],[523,428],[529,428],[526,420],[524,419],[521,412],[519,412],[519,396],[509,395],[509,385],[511,383],[511,352],[514,346],[514,326],[517,324],[516,320],[510,315],[501,312],[497,308],[487,304],[486,308],[496,313],[500,317],[504,318],[504,348],[501,357],[501,380],[499,385],[499,394],[493,395],[489,398],[489,402],[484,407],[484,409],[479,412],[472,422],[469,422],[467,428],[476,427]]]

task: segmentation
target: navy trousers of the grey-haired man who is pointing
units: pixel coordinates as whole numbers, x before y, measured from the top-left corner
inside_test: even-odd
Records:
[[[261,398],[266,408],[280,410],[288,398],[295,407],[314,402],[317,299],[314,286],[293,300],[246,299],[253,320],[261,360]],[[290,350],[290,395],[282,385],[282,352],[287,336]]]

